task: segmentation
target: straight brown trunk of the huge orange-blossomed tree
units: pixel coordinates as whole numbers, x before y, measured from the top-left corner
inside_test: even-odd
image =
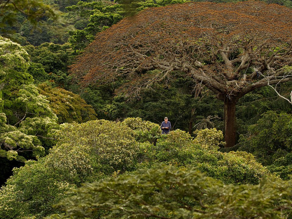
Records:
[[[235,104],[236,100],[224,98],[224,127],[225,127],[225,148],[230,148],[235,145]]]

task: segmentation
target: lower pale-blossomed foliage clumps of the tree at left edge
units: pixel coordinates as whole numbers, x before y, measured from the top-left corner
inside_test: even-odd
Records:
[[[23,89],[17,92],[14,104],[15,109],[25,109],[24,116],[14,126],[5,124],[6,115],[2,113],[2,128],[0,129],[1,148],[7,151],[7,159],[19,159],[18,155],[24,151],[32,151],[31,156],[44,155],[44,148],[37,135],[45,135],[57,123],[57,116],[52,112],[48,101],[44,96],[39,95],[35,85],[23,85]],[[27,114],[40,117],[26,118]],[[46,117],[41,117],[46,116]],[[12,118],[10,118],[11,121]],[[23,121],[23,123],[22,123]],[[20,123],[20,128],[15,126]],[[42,136],[43,137],[43,136]]]

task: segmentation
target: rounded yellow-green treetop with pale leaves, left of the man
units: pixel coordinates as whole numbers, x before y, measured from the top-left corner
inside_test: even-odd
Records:
[[[82,124],[65,123],[61,127],[61,130],[56,134],[60,140],[51,149],[52,155],[50,156],[57,156],[54,159],[55,163],[65,163],[66,168],[69,168],[68,173],[74,171],[74,169],[78,170],[78,167],[74,165],[67,165],[67,161],[69,162],[70,159],[75,160],[75,158],[68,159],[66,157],[68,154],[54,152],[62,150],[58,149],[59,147],[66,150],[67,144],[75,147],[75,149],[84,145],[87,150],[85,157],[92,160],[91,164],[89,162],[86,163],[91,165],[95,172],[99,172],[100,168],[106,174],[110,174],[114,170],[133,170],[134,164],[137,162],[139,146],[130,128],[125,125],[106,120],[94,120]],[[60,156],[65,157],[61,158]],[[76,165],[79,166],[79,162],[76,161]],[[80,165],[82,166],[82,164]],[[62,169],[62,171],[64,170]],[[83,171],[80,171],[79,174],[83,174]]]

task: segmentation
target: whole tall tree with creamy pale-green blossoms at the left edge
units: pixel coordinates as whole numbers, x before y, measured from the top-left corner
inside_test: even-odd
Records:
[[[23,161],[24,157],[44,155],[42,143],[46,141],[41,139],[47,137],[50,126],[56,127],[57,116],[45,96],[31,84],[33,79],[28,73],[27,52],[8,39],[1,38],[0,41],[0,109],[3,111],[0,116],[0,147],[8,160]]]

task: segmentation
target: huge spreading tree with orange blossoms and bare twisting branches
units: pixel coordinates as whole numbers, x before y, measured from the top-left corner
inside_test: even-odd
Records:
[[[127,79],[138,96],[172,72],[206,85],[224,101],[226,147],[235,144],[235,105],[292,63],[292,10],[264,2],[189,2],[146,9],[99,33],[72,65],[84,85]],[[159,71],[151,71],[158,69]]]

